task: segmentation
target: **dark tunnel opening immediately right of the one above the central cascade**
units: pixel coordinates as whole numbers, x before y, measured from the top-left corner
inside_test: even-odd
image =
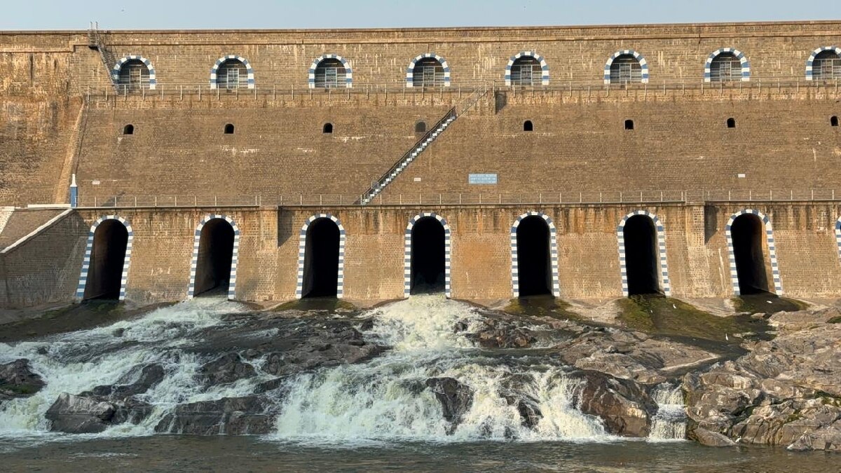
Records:
[[[521,297],[552,294],[549,225],[540,216],[527,216],[517,226],[517,279]]]

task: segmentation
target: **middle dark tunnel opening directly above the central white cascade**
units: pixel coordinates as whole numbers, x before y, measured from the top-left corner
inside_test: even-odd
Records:
[[[411,293],[444,290],[444,226],[424,217],[412,227]]]

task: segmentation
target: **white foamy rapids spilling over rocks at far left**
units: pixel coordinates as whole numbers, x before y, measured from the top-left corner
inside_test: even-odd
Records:
[[[0,343],[0,363],[29,359],[30,368],[46,385],[34,396],[6,401],[0,407],[0,436],[45,433],[44,414],[62,392],[78,394],[98,385],[112,385],[137,366],[160,363],[166,377],[145,394],[155,412],[139,426],[119,425],[99,435],[153,433],[167,409],[178,403],[251,394],[253,383],[204,391],[195,380],[207,359],[179,348],[195,343],[195,334],[218,325],[225,314],[246,306],[220,298],[199,298],[151,311],[137,319],[47,337],[37,342]],[[263,379],[264,380],[264,379]]]

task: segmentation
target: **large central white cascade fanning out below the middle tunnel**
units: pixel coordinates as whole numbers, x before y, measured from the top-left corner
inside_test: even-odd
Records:
[[[418,295],[373,312],[368,337],[394,349],[368,364],[345,365],[291,383],[278,417],[278,438],[353,443],[370,439],[467,441],[479,439],[604,441],[599,419],[574,406],[571,381],[559,366],[508,363],[480,353],[463,332],[474,332],[480,317],[461,302],[441,295]],[[458,428],[447,421],[429,378],[454,378],[473,389],[473,403]],[[522,425],[516,402],[500,394],[508,385],[531,398],[542,413],[534,428]]]

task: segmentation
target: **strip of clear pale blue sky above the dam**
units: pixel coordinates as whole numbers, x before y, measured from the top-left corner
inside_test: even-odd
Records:
[[[791,0],[4,0],[0,29],[246,29],[838,19]],[[834,17],[829,16],[834,15]]]

